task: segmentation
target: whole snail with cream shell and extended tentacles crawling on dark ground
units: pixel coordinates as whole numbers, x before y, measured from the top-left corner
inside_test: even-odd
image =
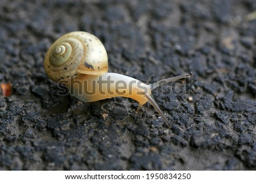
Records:
[[[67,84],[70,94],[84,102],[122,96],[137,100],[138,112],[148,101],[168,126],[166,116],[151,97],[151,90],[192,75],[183,74],[145,84],[126,75],[108,73],[104,45],[96,36],[81,31],[67,33],[51,45],[44,58],[44,69],[49,78]]]

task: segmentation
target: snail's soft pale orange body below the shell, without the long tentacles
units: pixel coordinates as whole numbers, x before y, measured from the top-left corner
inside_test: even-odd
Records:
[[[142,95],[151,94],[150,85],[117,73],[103,73],[100,76],[79,74],[76,79],[69,82],[68,87],[71,95],[84,102],[122,96],[137,100],[143,105],[147,99]]]

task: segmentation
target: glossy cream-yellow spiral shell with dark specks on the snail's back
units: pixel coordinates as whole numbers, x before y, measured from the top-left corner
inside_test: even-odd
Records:
[[[44,69],[53,81],[69,80],[77,74],[101,75],[108,72],[108,55],[101,41],[88,32],[70,32],[49,48]]]

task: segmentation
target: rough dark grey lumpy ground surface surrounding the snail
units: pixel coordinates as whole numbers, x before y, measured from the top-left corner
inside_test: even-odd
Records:
[[[256,170],[254,0],[6,1],[0,5],[0,170]],[[198,95],[145,104],[58,96],[43,58],[88,31],[109,71],[147,80],[193,72]],[[2,94],[1,94],[2,95]],[[192,97],[189,99],[189,97]]]

